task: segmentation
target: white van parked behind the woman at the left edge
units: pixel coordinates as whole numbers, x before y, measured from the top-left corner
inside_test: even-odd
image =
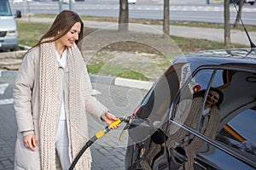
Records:
[[[0,0],[0,50],[15,50],[19,46],[19,38],[15,17],[20,18],[20,10],[13,14],[9,0]]]

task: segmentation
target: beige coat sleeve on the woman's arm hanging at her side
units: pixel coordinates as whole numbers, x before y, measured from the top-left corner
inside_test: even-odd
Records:
[[[21,62],[15,79],[14,107],[18,131],[27,133],[34,130],[32,122],[32,88],[35,80],[34,54],[29,52]]]

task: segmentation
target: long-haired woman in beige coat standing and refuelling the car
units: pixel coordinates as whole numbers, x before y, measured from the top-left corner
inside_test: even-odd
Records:
[[[91,96],[77,46],[83,31],[78,14],[62,11],[20,65],[14,89],[15,169],[68,169],[88,140],[86,111],[108,124],[118,120]],[[86,150],[76,169],[90,169],[90,161]]]

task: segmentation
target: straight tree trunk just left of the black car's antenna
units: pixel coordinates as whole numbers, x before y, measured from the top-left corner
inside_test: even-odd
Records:
[[[230,48],[230,0],[224,0],[224,45]]]

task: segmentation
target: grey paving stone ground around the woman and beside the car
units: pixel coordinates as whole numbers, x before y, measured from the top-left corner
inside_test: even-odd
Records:
[[[0,94],[0,170],[11,170],[14,168],[15,139],[16,139],[16,122],[15,111],[12,102],[12,89],[15,80],[15,74],[0,77],[0,84],[9,83],[4,94]],[[97,94],[96,98],[102,104],[107,105],[108,109],[116,116],[131,115],[143,96],[147,93],[145,90],[136,88],[125,88],[108,84],[94,83],[93,87],[101,94]],[[90,137],[96,132],[104,128],[103,122],[98,122],[94,117],[88,118],[90,127]],[[97,140],[91,145],[92,153],[92,170],[108,170],[108,169],[125,169],[125,150],[127,142],[127,133],[124,139],[119,141],[119,134],[122,127],[109,132],[102,139]]]

